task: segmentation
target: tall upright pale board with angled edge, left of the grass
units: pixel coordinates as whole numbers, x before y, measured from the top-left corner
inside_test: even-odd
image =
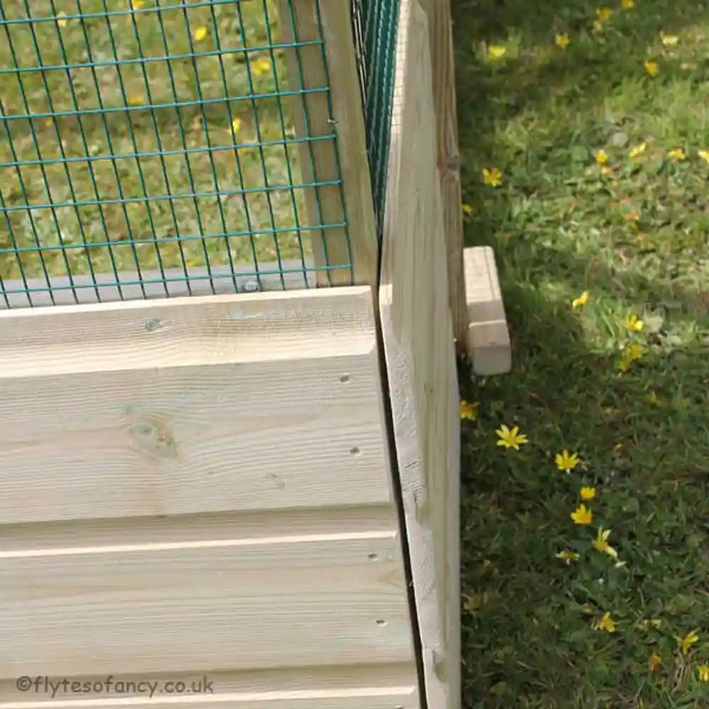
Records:
[[[459,420],[445,220],[428,21],[417,0],[402,0],[400,13],[379,304],[426,701],[457,709]]]

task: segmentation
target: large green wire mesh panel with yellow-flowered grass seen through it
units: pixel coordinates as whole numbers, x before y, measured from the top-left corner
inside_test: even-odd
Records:
[[[0,2],[0,308],[312,284],[276,5]]]

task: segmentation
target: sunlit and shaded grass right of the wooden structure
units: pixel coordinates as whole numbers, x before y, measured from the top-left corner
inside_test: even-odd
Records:
[[[598,6],[454,3],[467,242],[496,250],[513,339],[511,374],[462,377],[479,402],[463,422],[467,708],[709,706],[709,4],[613,0],[594,32]],[[621,372],[631,340],[645,353]],[[497,447],[501,424],[529,443]],[[563,449],[581,459],[569,474]],[[590,526],[569,516],[582,485]],[[599,525],[625,566],[591,548]],[[613,633],[592,629],[605,612]]]

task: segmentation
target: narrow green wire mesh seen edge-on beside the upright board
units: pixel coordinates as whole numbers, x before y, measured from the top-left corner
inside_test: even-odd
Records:
[[[381,239],[393,98],[398,0],[352,0],[377,233]]]

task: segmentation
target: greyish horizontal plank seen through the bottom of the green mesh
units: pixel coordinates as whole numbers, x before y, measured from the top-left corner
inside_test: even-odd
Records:
[[[252,266],[212,266],[209,270],[190,266],[164,272],[142,271],[140,276],[121,271],[118,279],[104,273],[95,278],[74,276],[71,281],[68,276],[30,278],[26,282],[6,280],[0,285],[0,310],[314,288],[315,273],[313,264],[288,260],[259,264],[257,274]]]

